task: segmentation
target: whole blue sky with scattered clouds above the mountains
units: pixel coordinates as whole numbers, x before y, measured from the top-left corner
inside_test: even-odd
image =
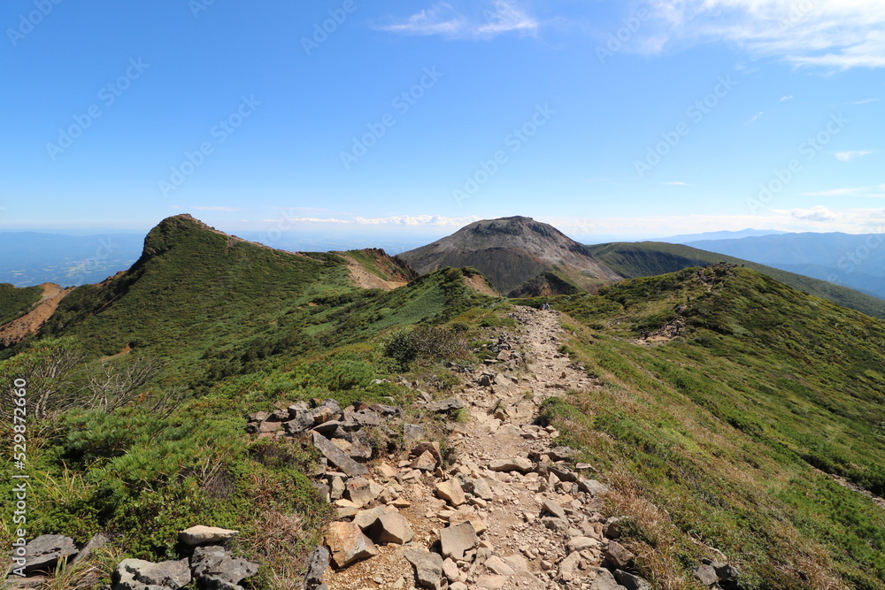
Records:
[[[0,230],[885,224],[881,0],[9,0],[0,23]]]

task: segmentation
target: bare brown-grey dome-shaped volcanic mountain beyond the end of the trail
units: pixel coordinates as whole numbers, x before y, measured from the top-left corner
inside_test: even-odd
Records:
[[[399,257],[420,274],[472,266],[504,295],[558,295],[623,279],[556,227],[527,217],[477,221]]]

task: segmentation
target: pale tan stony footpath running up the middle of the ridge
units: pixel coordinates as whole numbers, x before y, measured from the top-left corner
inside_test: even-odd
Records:
[[[458,397],[425,400],[467,416],[451,426],[444,471],[440,446],[412,425],[408,459],[327,479],[340,522],[312,555],[307,590],[650,589],[614,540],[620,519],[600,514],[607,488],[596,470],[569,467],[574,451],[553,447],[558,432],[536,424],[548,397],[601,385],[560,352],[557,311],[519,307],[509,317],[517,328],[498,333],[496,359],[468,374]],[[725,588],[736,575],[706,563],[696,579]]]

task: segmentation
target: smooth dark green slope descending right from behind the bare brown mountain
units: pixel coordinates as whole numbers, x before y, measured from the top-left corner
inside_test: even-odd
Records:
[[[852,310],[863,311],[874,318],[885,318],[885,301],[876,297],[865,295],[848,287],[827,283],[824,280],[812,279],[764,264],[756,264],[689,246],[643,241],[599,244],[587,246],[587,249],[592,256],[611,266],[612,270],[631,279],[676,272],[689,266],[702,266],[717,262],[745,264],[754,271],[780,280],[782,283],[805,293],[828,299]]]

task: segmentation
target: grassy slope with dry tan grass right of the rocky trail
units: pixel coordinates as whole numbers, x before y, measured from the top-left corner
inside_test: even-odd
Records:
[[[885,324],[746,269],[696,270],[560,298],[574,356],[604,387],[547,415],[616,489],[615,512],[667,587],[719,548],[749,588],[885,588]],[[691,297],[691,303],[686,303]],[[687,332],[634,340],[688,305]],[[592,327],[590,327],[592,326]],[[650,502],[650,503],[649,503]]]

